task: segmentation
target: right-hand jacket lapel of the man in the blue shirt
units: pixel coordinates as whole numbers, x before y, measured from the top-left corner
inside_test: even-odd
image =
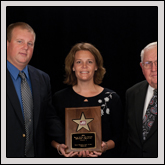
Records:
[[[30,81],[32,85],[32,93],[33,93],[34,129],[36,129],[39,113],[40,113],[40,82],[39,82],[39,76],[36,70],[33,69],[31,66],[28,66],[28,68],[29,68],[29,76],[30,76]]]

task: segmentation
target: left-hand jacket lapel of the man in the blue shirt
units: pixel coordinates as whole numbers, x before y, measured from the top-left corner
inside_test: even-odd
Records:
[[[8,70],[7,70],[7,97],[9,98],[17,117],[21,122],[21,125],[24,126],[24,119],[22,115],[20,102]]]

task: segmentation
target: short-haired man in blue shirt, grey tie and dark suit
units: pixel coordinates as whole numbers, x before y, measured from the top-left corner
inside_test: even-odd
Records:
[[[64,131],[51,104],[49,76],[28,65],[35,32],[17,22],[7,29],[7,157],[45,157],[45,136]]]

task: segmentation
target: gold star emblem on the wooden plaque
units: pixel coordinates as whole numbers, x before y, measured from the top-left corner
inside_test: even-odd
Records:
[[[86,130],[89,130],[88,123],[90,123],[93,119],[86,119],[84,113],[82,112],[81,118],[78,120],[73,120],[73,122],[78,124],[77,131],[79,131],[81,128],[85,128]]]

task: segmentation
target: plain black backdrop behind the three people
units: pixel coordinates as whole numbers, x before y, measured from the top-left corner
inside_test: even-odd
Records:
[[[125,106],[125,92],[144,80],[140,52],[158,40],[157,6],[8,6],[6,26],[26,22],[36,32],[30,64],[49,74],[52,93],[67,85],[64,60],[78,42],[102,54],[106,74],[101,86],[114,90]]]

